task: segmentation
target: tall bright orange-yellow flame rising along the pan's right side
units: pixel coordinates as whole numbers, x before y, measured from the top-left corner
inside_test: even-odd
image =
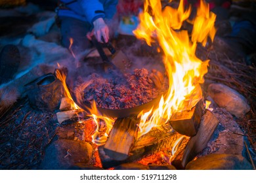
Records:
[[[203,45],[207,37],[215,35],[215,14],[209,12],[209,5],[201,0],[196,18],[192,21],[192,39],[186,30],[178,30],[182,23],[188,20],[191,8],[184,10],[183,0],[179,8],[161,8],[160,0],[146,0],[144,12],[139,15],[140,24],[133,33],[139,39],[144,39],[148,45],[158,41],[164,52],[163,63],[169,78],[169,90],[161,97],[159,107],[139,114],[139,137],[152,127],[158,127],[168,122],[175,111],[189,110],[202,99],[200,84],[204,82],[203,75],[207,73],[209,60],[201,61],[195,55],[197,42]]]

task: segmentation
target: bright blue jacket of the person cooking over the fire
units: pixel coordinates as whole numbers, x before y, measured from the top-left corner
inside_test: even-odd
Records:
[[[117,0],[61,0],[66,8],[58,10],[58,16],[68,16],[89,22],[97,18],[110,19],[116,13]]]

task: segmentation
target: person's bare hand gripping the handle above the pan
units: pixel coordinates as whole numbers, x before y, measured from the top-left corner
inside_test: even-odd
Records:
[[[93,31],[87,33],[87,38],[91,40],[91,37],[95,35],[98,42],[102,42],[101,37],[103,37],[105,42],[108,42],[109,38],[109,29],[108,25],[104,22],[103,18],[98,18],[93,22],[94,29]],[[103,42],[102,42],[103,43]]]

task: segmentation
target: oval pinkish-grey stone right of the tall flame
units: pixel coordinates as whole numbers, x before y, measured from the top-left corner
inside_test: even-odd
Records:
[[[219,105],[238,118],[243,118],[250,107],[243,95],[224,84],[210,84],[208,95]]]

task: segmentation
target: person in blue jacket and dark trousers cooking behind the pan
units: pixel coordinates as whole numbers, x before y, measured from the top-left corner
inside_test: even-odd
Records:
[[[91,38],[98,42],[110,39],[110,22],[116,14],[117,0],[61,0],[56,8],[60,22],[62,45],[81,54],[91,48]]]

